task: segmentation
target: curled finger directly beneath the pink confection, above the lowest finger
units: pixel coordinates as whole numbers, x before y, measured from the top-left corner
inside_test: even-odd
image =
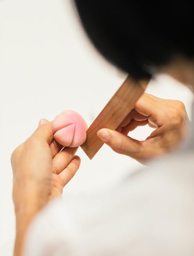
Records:
[[[67,165],[72,161],[75,156],[78,147],[76,148],[64,148],[61,152],[57,153],[53,158],[53,173],[59,174]]]

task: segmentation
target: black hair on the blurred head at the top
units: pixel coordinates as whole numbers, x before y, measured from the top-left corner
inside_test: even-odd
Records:
[[[154,67],[174,55],[194,57],[191,3],[75,0],[90,40],[107,60],[134,79],[149,78]]]

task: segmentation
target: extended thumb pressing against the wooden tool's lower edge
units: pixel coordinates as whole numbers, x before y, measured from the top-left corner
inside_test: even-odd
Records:
[[[113,151],[128,155],[136,160],[143,158],[143,145],[141,141],[132,139],[118,131],[101,129],[97,132],[98,137],[110,146]]]

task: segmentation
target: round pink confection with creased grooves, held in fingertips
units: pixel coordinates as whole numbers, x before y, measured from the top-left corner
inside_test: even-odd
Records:
[[[65,110],[53,121],[54,139],[62,146],[80,146],[86,140],[87,124],[75,111]]]

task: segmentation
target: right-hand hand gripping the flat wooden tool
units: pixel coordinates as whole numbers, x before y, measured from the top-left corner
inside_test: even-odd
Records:
[[[143,125],[155,128],[146,140],[127,136],[137,126]],[[144,93],[116,131],[104,128],[97,135],[115,152],[145,163],[179,146],[188,126],[188,115],[181,101],[164,100]]]

